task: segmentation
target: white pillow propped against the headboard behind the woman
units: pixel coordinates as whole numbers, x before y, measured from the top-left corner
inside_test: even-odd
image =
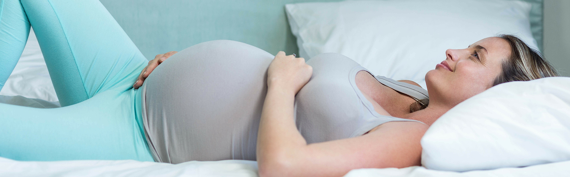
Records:
[[[335,52],[376,75],[425,86],[447,49],[467,48],[499,32],[536,47],[531,5],[500,0],[392,0],[294,3],[285,6],[300,57]]]

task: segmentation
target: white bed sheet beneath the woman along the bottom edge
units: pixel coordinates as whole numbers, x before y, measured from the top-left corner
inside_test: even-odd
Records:
[[[345,177],[392,176],[392,177],[491,177],[491,176],[543,176],[558,177],[570,174],[570,161],[547,163],[522,168],[499,168],[467,172],[429,170],[421,166],[407,168],[363,168],[348,172]],[[0,157],[0,177],[3,176],[243,176],[255,177],[257,162],[244,160],[190,161],[173,165],[170,163],[122,161],[14,161]]]

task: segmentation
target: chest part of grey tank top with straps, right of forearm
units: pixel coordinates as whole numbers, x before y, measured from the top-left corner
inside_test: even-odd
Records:
[[[307,143],[360,136],[389,121],[416,121],[376,112],[355,82],[359,71],[370,71],[348,57],[339,56],[324,53],[307,61],[313,75],[295,96],[296,125]],[[376,79],[416,100],[429,98],[421,87],[382,76]]]

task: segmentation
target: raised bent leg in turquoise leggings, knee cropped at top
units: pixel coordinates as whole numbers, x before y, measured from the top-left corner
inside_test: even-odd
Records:
[[[62,106],[131,89],[146,60],[97,0],[0,0],[0,85],[34,28]]]

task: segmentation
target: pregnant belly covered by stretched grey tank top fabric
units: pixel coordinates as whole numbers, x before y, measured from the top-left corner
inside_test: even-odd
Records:
[[[143,86],[143,120],[155,161],[255,160],[274,56],[230,40],[184,49]]]

